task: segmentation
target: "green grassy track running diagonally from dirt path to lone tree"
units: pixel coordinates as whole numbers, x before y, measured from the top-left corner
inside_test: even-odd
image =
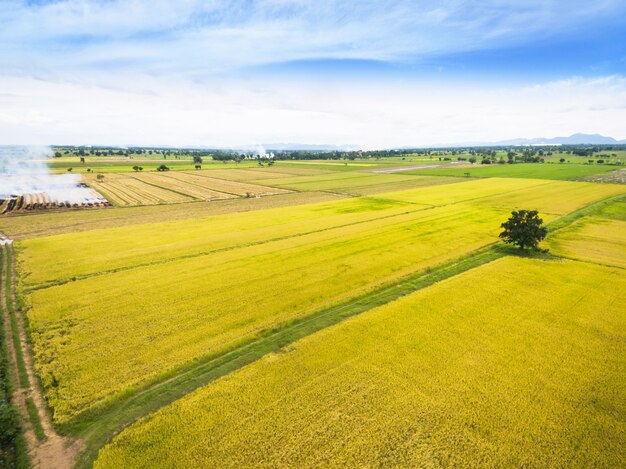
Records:
[[[69,426],[68,430],[84,438],[87,443],[87,449],[79,455],[77,467],[90,467],[99,448],[136,419],[154,412],[200,386],[350,316],[363,313],[445,278],[491,262],[507,255],[508,252],[498,243],[483,247],[469,255],[434,268],[430,272],[413,273],[400,281],[324,308],[305,318],[276,326],[231,350],[198,360],[191,366],[161,376],[165,379],[149,384],[143,389],[140,388],[128,399],[114,403],[100,413],[93,413],[91,421]]]

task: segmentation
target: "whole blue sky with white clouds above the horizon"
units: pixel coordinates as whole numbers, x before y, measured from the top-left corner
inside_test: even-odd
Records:
[[[626,139],[623,0],[0,0],[0,144]]]

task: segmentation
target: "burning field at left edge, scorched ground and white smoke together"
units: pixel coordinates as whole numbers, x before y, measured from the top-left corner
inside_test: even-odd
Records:
[[[47,147],[0,147],[0,214],[110,205],[77,175],[50,174],[50,154]]]

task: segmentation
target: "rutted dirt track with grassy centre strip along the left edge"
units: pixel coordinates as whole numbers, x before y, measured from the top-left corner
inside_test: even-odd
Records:
[[[17,313],[15,296],[15,260],[11,243],[2,245],[2,310],[7,317],[4,327],[7,338],[13,337],[9,353],[10,368],[16,377],[12,402],[16,405],[23,425],[24,436],[33,467],[69,469],[82,450],[81,440],[59,435],[48,412],[46,401],[35,374],[24,318]],[[10,317],[11,327],[8,319]],[[15,342],[15,327],[18,341]],[[21,357],[21,361],[20,361]]]

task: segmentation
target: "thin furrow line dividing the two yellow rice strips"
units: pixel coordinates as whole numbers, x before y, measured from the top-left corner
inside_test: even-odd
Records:
[[[124,266],[124,267],[118,267],[115,269],[109,269],[109,270],[101,270],[97,273],[92,273],[92,274],[84,274],[84,275],[76,275],[72,278],[65,278],[65,279],[61,279],[61,280],[55,280],[49,283],[42,283],[42,284],[37,284],[37,285],[33,285],[31,287],[26,287],[24,288],[24,293],[30,293],[33,291],[37,291],[37,290],[44,290],[46,288],[50,288],[50,287],[55,287],[58,285],[64,285],[66,283],[69,282],[73,282],[76,280],[83,280],[83,279],[87,279],[87,278],[91,278],[91,277],[99,277],[101,275],[106,275],[106,274],[112,274],[112,273],[116,273],[116,272],[124,272],[127,270],[133,270],[133,269],[138,269],[141,267],[148,267],[148,266],[154,266],[154,265],[163,265],[163,264],[167,264],[169,262],[175,262],[178,260],[184,260],[184,259],[193,259],[196,257],[202,257],[202,256],[208,256],[211,254],[216,254],[216,253],[220,253],[220,252],[226,252],[226,251],[232,251],[235,249],[241,249],[241,248],[246,248],[246,247],[252,247],[252,246],[259,246],[259,245],[263,245],[263,244],[268,244],[268,243],[272,243],[272,242],[277,242],[277,241],[284,241],[287,239],[291,239],[291,238],[298,238],[300,236],[307,236],[307,235],[311,235],[311,234],[315,234],[315,233],[323,233],[326,231],[332,231],[332,230],[337,230],[337,229],[341,229],[341,228],[347,228],[350,226],[357,226],[357,225],[362,225],[362,224],[367,224],[367,223],[373,223],[376,221],[380,221],[380,220],[386,220],[386,219],[391,219],[391,218],[395,218],[395,217],[401,217],[401,216],[405,216],[411,213],[417,213],[417,212],[422,212],[425,210],[432,210],[434,208],[437,208],[437,206],[426,206],[426,205],[420,205],[421,208],[417,209],[417,210],[408,210],[406,212],[401,212],[401,213],[394,213],[392,215],[385,215],[382,217],[376,217],[376,218],[370,218],[370,219],[366,219],[366,220],[360,220],[360,221],[356,221],[356,222],[351,222],[351,223],[345,223],[342,225],[334,225],[334,226],[330,226],[327,228],[321,228],[318,230],[310,230],[310,231],[303,231],[300,233],[295,233],[295,234],[290,234],[290,235],[285,235],[285,236],[278,236],[275,238],[268,238],[268,239],[261,239],[259,241],[255,241],[255,242],[250,242],[250,243],[242,243],[242,244],[237,244],[234,246],[228,246],[228,247],[223,247],[223,248],[218,248],[218,249],[212,249],[212,250],[208,250],[208,251],[202,251],[202,252],[196,252],[193,254],[185,254],[182,256],[177,256],[177,257],[171,257],[171,258],[167,258],[167,259],[159,259],[156,261],[151,261],[151,262],[144,262],[144,263],[140,263],[140,264],[133,264],[133,265],[129,265],[129,266]]]

